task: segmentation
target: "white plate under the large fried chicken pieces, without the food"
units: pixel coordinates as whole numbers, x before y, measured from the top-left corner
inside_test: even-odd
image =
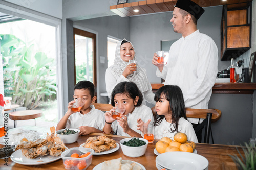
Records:
[[[68,147],[65,147],[67,150]],[[61,158],[61,155],[59,156],[52,156],[52,155],[45,155],[45,156],[39,156],[35,159],[28,159],[26,156],[22,155],[22,150],[17,150],[11,155],[11,160],[15,163],[22,164],[22,165],[42,165],[54,162],[56,160],[59,160]]]

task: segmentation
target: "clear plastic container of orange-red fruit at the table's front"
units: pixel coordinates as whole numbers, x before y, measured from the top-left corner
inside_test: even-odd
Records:
[[[70,148],[61,154],[65,169],[84,170],[87,169],[93,159],[94,150],[86,148],[80,151],[78,147]]]

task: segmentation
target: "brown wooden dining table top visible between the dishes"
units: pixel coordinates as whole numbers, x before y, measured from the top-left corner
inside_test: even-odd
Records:
[[[78,138],[77,142],[66,144],[68,148],[73,147],[79,147],[82,143],[86,141],[88,137],[91,136],[98,136],[102,135],[100,133],[90,134],[86,136],[81,136]],[[116,135],[106,135],[112,139],[114,139],[117,143],[121,139],[123,139],[123,136],[116,136]],[[128,159],[135,162],[138,162],[142,164],[146,169],[157,169],[156,168],[156,157],[157,155],[154,154],[155,144],[157,140],[154,141],[154,143],[148,144],[147,150],[145,155],[141,157],[128,157],[125,156],[122,152],[121,147],[110,154],[105,155],[93,155],[92,164],[87,168],[88,170],[93,169],[96,165],[99,163],[104,162],[105,160],[111,160],[111,159],[117,159],[119,157],[122,157],[122,159]],[[120,144],[120,143],[119,143]],[[238,147],[239,151],[242,152],[242,148]],[[204,144],[204,143],[196,143],[196,150],[197,154],[204,156],[209,161],[208,169],[236,169],[231,157],[229,155],[237,154],[236,146],[233,145],[218,145],[218,144]],[[63,165],[62,159],[59,159],[55,162],[44,164],[44,165],[36,165],[36,166],[26,166],[21,165],[18,163],[12,162],[10,158],[8,158],[8,166],[5,166],[4,163],[0,163],[0,169],[17,169],[17,170],[27,170],[27,169],[65,169]]]

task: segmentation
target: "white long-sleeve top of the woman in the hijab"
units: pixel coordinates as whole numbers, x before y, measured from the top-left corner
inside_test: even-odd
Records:
[[[144,68],[142,68],[144,69]],[[114,89],[114,87],[120,83],[120,82],[130,82],[128,79],[126,79],[123,75],[118,75],[116,72],[114,72],[112,69],[110,68],[107,68],[106,69],[106,74],[105,74],[105,80],[106,80],[106,92],[108,92],[108,96],[109,98],[111,99],[111,93]],[[145,75],[146,76],[146,75]],[[148,80],[148,79],[147,79]],[[145,82],[147,84],[150,84],[149,81]],[[147,91],[144,91],[142,92],[142,95],[143,95],[143,102],[142,104],[143,105],[146,105],[146,102],[147,101],[148,103],[151,103],[151,104],[155,104],[156,102],[154,101],[154,96],[155,94],[152,92],[152,88],[150,88],[150,90],[147,90]]]

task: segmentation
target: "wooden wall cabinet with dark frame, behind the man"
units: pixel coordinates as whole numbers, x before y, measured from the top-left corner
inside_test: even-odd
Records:
[[[251,2],[223,5],[221,60],[237,58],[251,48]]]

